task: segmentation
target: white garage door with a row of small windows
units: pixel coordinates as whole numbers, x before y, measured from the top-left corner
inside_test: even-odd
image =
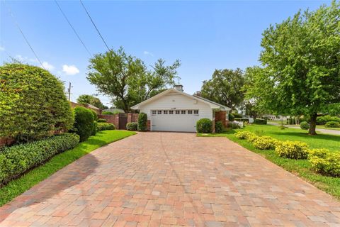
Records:
[[[196,132],[198,110],[152,110],[152,131]]]

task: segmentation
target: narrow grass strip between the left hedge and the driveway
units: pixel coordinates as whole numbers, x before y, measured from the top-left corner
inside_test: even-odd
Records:
[[[26,192],[26,190],[30,189],[35,184],[50,177],[50,175],[62,169],[62,167],[69,165],[69,163],[79,159],[79,157],[91,153],[91,151],[96,150],[96,148],[121,140],[130,135],[135,135],[135,132],[118,130],[101,131],[96,135],[91,136],[88,140],[79,143],[77,147],[72,150],[67,150],[64,153],[55,155],[44,165],[30,170],[26,175],[23,175],[18,179],[13,179],[2,187],[0,189],[0,206],[8,203],[8,201],[11,201],[23,192]]]

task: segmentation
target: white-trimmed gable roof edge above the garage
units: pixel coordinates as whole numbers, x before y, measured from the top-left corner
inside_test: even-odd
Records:
[[[145,100],[145,101],[142,101],[141,103],[135,105],[135,106],[132,106],[131,109],[140,109],[140,106],[143,106],[145,104],[148,104],[149,102],[151,101],[154,101],[156,99],[159,99],[160,97],[164,96],[165,94],[168,94],[168,93],[171,93],[171,92],[176,92],[178,94],[182,94],[184,96],[187,96],[188,98],[191,98],[191,99],[195,99],[197,101],[202,101],[203,103],[205,104],[208,104],[210,106],[211,109],[223,109],[223,110],[230,110],[227,106],[222,106],[220,104],[217,104],[213,101],[210,101],[208,99],[203,99],[202,97],[199,97],[199,96],[195,96],[195,95],[191,95],[191,94],[187,94],[185,92],[181,92],[179,90],[176,90],[176,89],[167,89],[165,90],[164,92],[161,92],[155,96],[152,96],[151,98]]]

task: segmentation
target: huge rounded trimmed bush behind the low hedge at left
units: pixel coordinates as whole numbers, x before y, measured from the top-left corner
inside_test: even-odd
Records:
[[[0,67],[0,137],[32,141],[67,131],[74,121],[64,85],[40,67]]]

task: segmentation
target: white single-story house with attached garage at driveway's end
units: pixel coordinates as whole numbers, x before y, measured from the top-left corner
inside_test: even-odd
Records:
[[[200,118],[222,121],[226,126],[231,109],[198,94],[186,94],[182,85],[176,85],[132,106],[132,110],[147,114],[150,131],[196,132],[196,122]]]

